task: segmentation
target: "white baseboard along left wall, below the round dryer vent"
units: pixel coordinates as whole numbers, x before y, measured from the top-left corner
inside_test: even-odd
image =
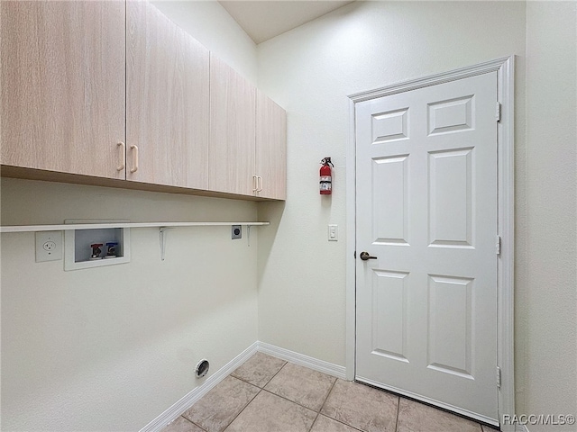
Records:
[[[202,398],[207,392],[210,392],[216,384],[224,380],[234,369],[248,360],[254,353],[256,353],[258,342],[253,343],[246,348],[241,354],[234,357],[233,360],[221,367],[215,374],[210,375],[204,383],[199,385],[194,390],[185,394],[179,401],[174,403],[168,410],[160,414],[159,417],[153,419],[148,425],[140,430],[140,432],[159,432],[166,427],[171,421],[178,419],[179,415],[185,410],[188,410],[196,401]]]

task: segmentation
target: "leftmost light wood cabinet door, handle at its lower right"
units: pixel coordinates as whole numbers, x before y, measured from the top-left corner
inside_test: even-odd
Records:
[[[0,8],[0,163],[124,178],[124,2]]]

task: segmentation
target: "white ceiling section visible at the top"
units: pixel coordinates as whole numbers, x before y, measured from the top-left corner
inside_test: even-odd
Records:
[[[352,0],[221,0],[220,4],[239,23],[244,31],[261,43],[328,14]]]

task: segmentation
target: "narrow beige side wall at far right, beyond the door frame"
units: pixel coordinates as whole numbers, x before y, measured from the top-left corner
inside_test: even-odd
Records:
[[[577,414],[577,3],[527,2],[519,414]],[[529,426],[531,432],[572,430]]]

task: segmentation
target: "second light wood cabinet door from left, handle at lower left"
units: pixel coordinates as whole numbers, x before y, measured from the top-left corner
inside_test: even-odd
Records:
[[[207,189],[208,50],[147,2],[127,11],[126,178]]]

